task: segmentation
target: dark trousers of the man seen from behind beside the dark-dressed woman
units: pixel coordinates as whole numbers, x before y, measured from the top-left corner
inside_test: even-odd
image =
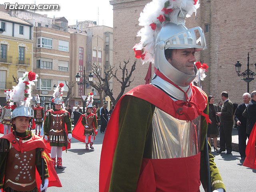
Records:
[[[220,151],[232,152],[232,128],[233,122],[220,122]]]

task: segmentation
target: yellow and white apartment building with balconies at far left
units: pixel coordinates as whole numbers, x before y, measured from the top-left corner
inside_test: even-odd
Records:
[[[33,25],[0,12],[0,105],[6,104],[4,90],[16,86],[14,77],[22,77],[24,72],[32,70]]]

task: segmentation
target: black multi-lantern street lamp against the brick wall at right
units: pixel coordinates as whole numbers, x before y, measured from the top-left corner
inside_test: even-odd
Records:
[[[242,64],[239,63],[239,61],[237,61],[237,63],[235,64],[235,67],[236,67],[236,73],[237,75],[240,77],[242,76],[242,80],[244,80],[245,82],[247,82],[247,92],[249,93],[249,83],[254,80],[253,76],[256,76],[256,74],[254,72],[252,72],[250,69],[249,69],[249,52],[248,52],[248,57],[247,57],[247,70],[245,70],[244,72],[242,72],[240,74],[240,71],[241,71],[241,66]],[[255,65],[255,70],[256,70],[256,63],[254,64]],[[250,76],[250,77],[249,77]]]

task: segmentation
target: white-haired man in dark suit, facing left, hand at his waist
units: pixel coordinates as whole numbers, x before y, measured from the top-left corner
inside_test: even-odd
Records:
[[[245,160],[245,149],[246,149],[246,123],[247,118],[242,116],[245,108],[248,106],[250,102],[251,96],[249,93],[243,94],[243,103],[239,104],[236,108],[236,113],[234,119],[236,121],[236,125],[238,126],[238,146],[239,153],[242,160]]]

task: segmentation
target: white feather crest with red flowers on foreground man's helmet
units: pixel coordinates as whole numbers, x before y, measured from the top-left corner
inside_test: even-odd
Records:
[[[168,5],[169,4],[169,5]],[[166,6],[168,5],[168,6]],[[168,20],[163,21],[162,23],[159,21],[158,17],[163,15],[167,18],[170,18],[172,12],[165,14],[162,10],[166,9],[180,9],[186,10],[186,17],[190,17],[193,12],[196,12],[196,9],[199,8],[198,0],[152,0],[144,7],[143,12],[140,13],[140,18],[138,19],[139,25],[143,26],[137,33],[137,36],[141,37],[140,43],[134,46],[135,50],[142,50],[142,54],[144,58],[142,58],[143,64],[144,62],[153,62],[154,63],[154,46],[155,39],[160,28],[166,23]],[[153,30],[150,24],[156,25],[156,30]],[[138,58],[138,57],[137,57]]]

